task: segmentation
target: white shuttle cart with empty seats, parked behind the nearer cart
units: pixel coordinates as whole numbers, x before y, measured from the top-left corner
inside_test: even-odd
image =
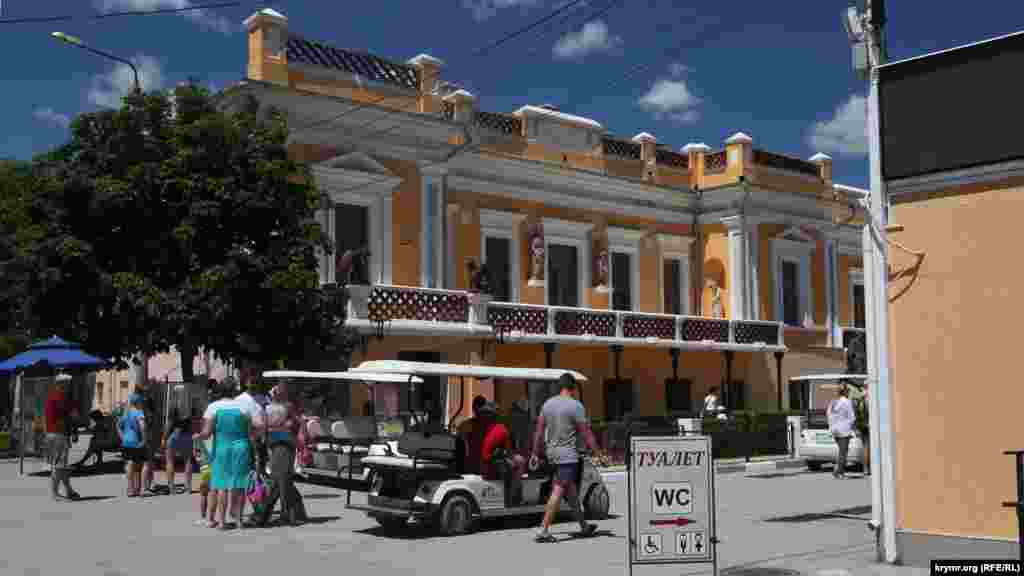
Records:
[[[370,398],[374,398],[374,384],[377,383],[409,383],[421,384],[423,379],[401,374],[376,374],[373,372],[309,372],[300,370],[268,370],[263,372],[267,380],[281,380],[290,388],[298,388],[302,394],[304,387],[311,384],[330,382],[337,385],[360,383],[370,389]],[[292,390],[289,390],[292,393]],[[321,434],[311,439],[314,461],[319,465],[306,468],[306,471],[326,470],[341,478],[348,474],[350,480],[369,482],[370,470],[362,465],[362,460],[370,455],[391,455],[397,449],[397,438],[403,429],[402,419],[384,419],[376,414],[365,416],[343,416],[331,420],[322,416]],[[388,428],[397,425],[397,433],[388,433]]]

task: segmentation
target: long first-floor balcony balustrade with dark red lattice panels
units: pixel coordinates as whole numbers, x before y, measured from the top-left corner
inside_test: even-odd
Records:
[[[778,322],[494,302],[486,296],[460,290],[388,285],[348,288],[353,303],[349,318],[372,324],[419,321],[444,323],[445,329],[472,324],[477,326],[474,330],[489,327],[500,339],[527,336],[557,341],[559,337],[586,337],[607,338],[613,343],[635,340],[784,345],[783,326]],[[429,326],[422,329],[429,334]],[[857,331],[862,332],[844,330],[844,337]]]

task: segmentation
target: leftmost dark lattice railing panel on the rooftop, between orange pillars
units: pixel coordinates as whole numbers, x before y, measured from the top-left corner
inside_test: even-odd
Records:
[[[386,60],[367,52],[342,50],[295,34],[288,36],[288,61],[340,70],[413,90],[420,87],[419,72],[409,65]]]

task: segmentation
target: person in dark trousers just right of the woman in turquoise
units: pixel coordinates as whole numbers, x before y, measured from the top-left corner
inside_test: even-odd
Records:
[[[283,385],[274,386],[266,407],[266,442],[272,482],[262,513],[256,519],[260,526],[266,526],[279,498],[282,521],[292,526],[306,521],[302,495],[294,482],[295,442],[300,425],[297,407],[289,401],[287,389]]]

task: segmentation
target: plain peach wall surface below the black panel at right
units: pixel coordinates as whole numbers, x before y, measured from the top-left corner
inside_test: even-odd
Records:
[[[1013,459],[1024,404],[1024,274],[1015,231],[1024,190],[921,199],[894,208],[891,345],[898,528],[1016,538]]]

